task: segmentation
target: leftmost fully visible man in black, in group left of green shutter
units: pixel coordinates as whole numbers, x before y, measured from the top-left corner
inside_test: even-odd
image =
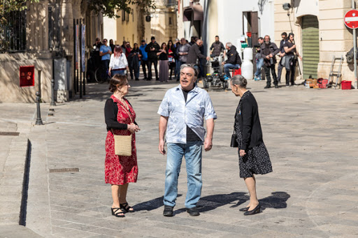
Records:
[[[275,73],[275,64],[276,64],[276,57],[275,55],[280,52],[277,45],[270,41],[270,36],[264,37],[264,44],[261,45],[261,55],[264,58],[264,70],[266,75],[266,87],[265,89],[271,88],[271,75],[270,69],[273,77],[273,84],[275,88],[278,89],[278,81]]]

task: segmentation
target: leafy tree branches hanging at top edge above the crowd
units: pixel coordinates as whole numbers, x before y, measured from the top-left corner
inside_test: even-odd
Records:
[[[150,9],[155,9],[155,0],[87,0],[88,7],[96,13],[102,13],[108,17],[120,17],[115,14],[124,10],[127,13],[131,13],[133,10],[131,7],[134,5],[139,6],[144,13],[149,13]]]

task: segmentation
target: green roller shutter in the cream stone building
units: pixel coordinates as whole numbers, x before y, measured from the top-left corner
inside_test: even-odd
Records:
[[[302,58],[303,79],[310,75],[317,78],[317,66],[320,62],[320,38],[318,20],[314,15],[302,17]]]

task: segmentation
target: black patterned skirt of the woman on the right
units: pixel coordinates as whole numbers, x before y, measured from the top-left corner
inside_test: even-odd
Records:
[[[252,174],[268,174],[272,172],[270,156],[264,143],[252,147],[246,151],[245,156],[241,157],[238,153],[238,167],[240,177],[252,177]]]

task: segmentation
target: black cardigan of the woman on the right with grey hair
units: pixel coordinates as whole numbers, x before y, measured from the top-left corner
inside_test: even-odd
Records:
[[[235,123],[240,126],[242,133],[240,149],[246,151],[264,142],[262,140],[259,107],[250,91],[246,91],[241,98],[241,103],[239,103],[235,114]]]

